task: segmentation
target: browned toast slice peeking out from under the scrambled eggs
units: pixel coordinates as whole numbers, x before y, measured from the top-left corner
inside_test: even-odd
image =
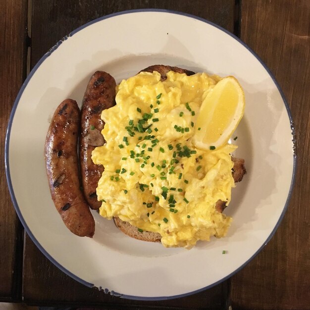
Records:
[[[186,69],[182,69],[178,67],[166,66],[162,64],[155,64],[153,66],[149,66],[141,70],[140,72],[153,73],[153,71],[157,71],[158,73],[160,73],[160,76],[161,76],[160,81],[164,81],[167,79],[167,73],[169,71],[185,73],[186,75],[195,74],[195,72],[190,71],[190,70],[186,70]],[[232,169],[232,176],[235,182],[240,182],[243,176],[246,174],[246,168],[244,166],[244,159],[232,157],[232,161],[234,162],[234,167]],[[223,212],[225,207],[226,207],[225,202],[221,200],[217,201],[215,205],[216,210],[219,212]],[[138,231],[137,227],[131,225],[128,222],[122,221],[118,217],[114,217],[113,219],[114,219],[114,223],[116,227],[129,237],[142,240],[142,241],[149,241],[149,242],[160,242],[161,240],[161,235],[159,233],[154,233],[154,232],[149,232],[149,231],[140,232]]]

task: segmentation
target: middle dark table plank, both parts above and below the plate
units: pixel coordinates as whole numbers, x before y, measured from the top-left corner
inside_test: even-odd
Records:
[[[187,12],[234,30],[234,0],[87,0],[32,1],[31,67],[58,40],[95,18],[136,8],[164,8]],[[128,301],[84,287],[57,269],[26,236],[23,298],[31,304],[106,305],[117,309],[226,309],[227,282],[210,290],[171,301]],[[114,305],[112,307],[112,305]],[[127,305],[127,306],[126,306]],[[114,308],[113,308],[114,309]]]

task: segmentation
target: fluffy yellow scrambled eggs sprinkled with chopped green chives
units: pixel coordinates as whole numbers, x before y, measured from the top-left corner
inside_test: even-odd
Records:
[[[120,83],[116,105],[102,113],[106,143],[92,154],[104,166],[103,217],[160,233],[165,247],[226,235],[231,218],[215,204],[230,202],[236,146],[203,151],[192,143],[200,106],[219,79],[171,71],[161,82],[158,72],[142,72]]]

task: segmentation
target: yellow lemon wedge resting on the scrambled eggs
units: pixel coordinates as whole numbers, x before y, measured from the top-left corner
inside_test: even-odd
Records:
[[[207,94],[195,124],[193,142],[202,150],[226,144],[237,128],[245,108],[244,92],[233,76],[221,79]]]

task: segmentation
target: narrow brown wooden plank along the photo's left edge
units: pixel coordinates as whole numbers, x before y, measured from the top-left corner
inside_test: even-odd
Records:
[[[27,1],[0,1],[0,12],[0,301],[9,301],[21,298],[22,227],[6,184],[4,142],[25,76]]]

